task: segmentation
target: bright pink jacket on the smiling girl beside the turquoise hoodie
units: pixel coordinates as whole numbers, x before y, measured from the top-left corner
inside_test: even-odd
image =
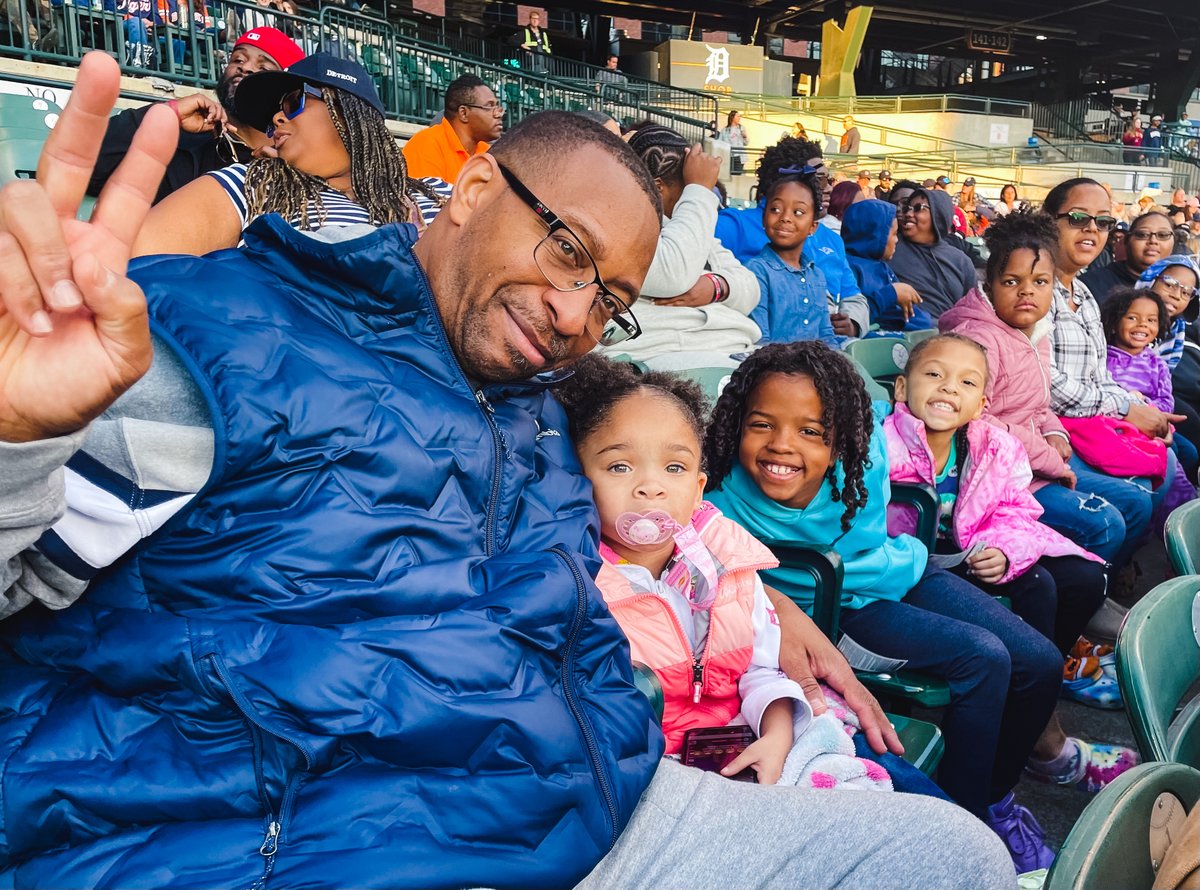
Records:
[[[937,471],[929,450],[925,425],[896,404],[883,421],[888,439],[888,467],[893,482],[934,485]],[[954,503],[955,545],[970,549],[976,541],[1008,557],[1008,569],[998,583],[1022,575],[1042,557],[1084,557],[1102,563],[1038,522],[1042,505],[1030,493],[1030,463],[1014,437],[990,423],[967,425],[967,458]],[[912,534],[914,523],[904,511],[888,512],[888,534]]]

